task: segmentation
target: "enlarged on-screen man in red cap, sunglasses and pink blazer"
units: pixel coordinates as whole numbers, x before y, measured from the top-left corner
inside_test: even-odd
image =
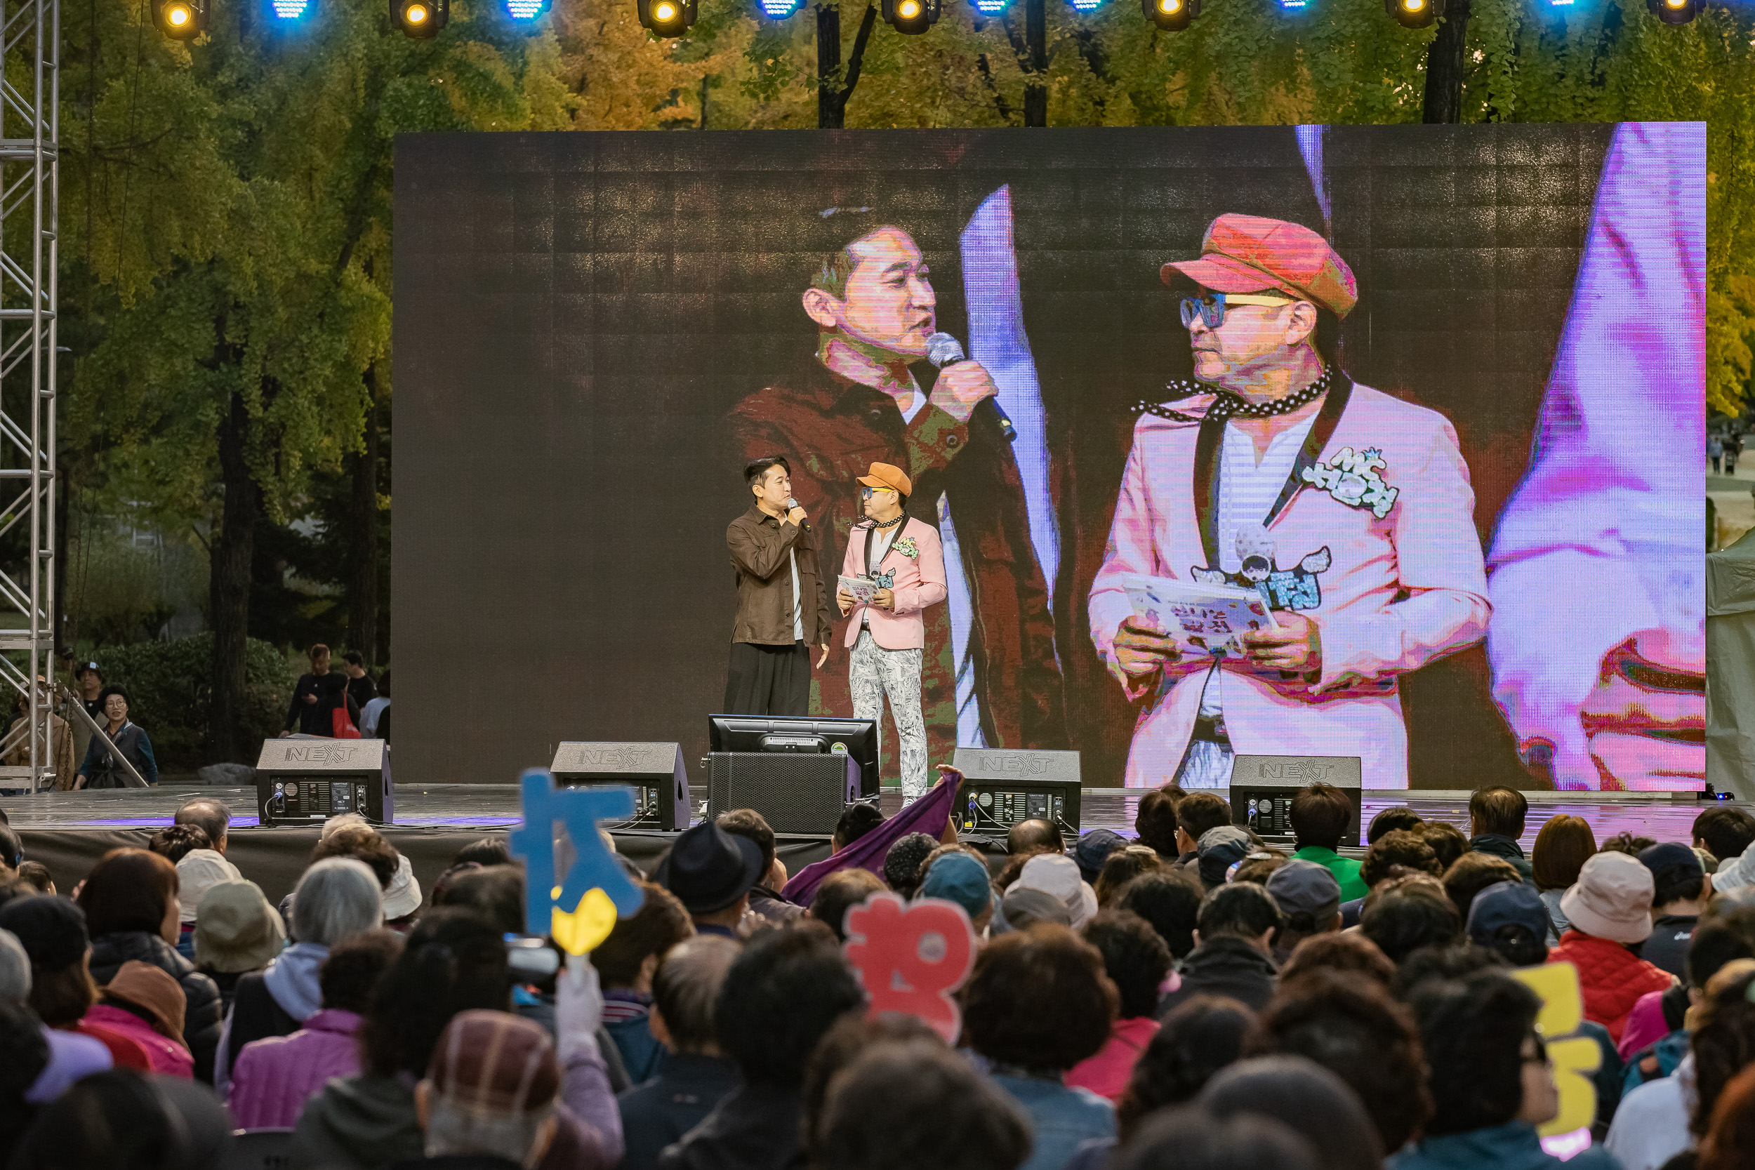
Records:
[[[1092,586],[1097,653],[1144,707],[1127,784],[1230,782],[1232,754],[1358,756],[1365,788],[1408,788],[1397,675],[1478,642],[1490,605],[1474,491],[1450,421],[1334,363],[1358,300],[1309,228],[1220,216],[1181,319],[1199,382],[1185,414],[1134,426]],[[1179,654],[1134,616],[1123,577],[1253,586],[1278,628],[1241,656]]]

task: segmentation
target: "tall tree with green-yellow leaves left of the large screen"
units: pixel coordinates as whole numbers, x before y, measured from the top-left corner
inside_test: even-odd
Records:
[[[358,456],[360,561],[377,561],[393,135],[562,128],[572,98],[551,33],[463,4],[428,42],[363,0],[291,32],[216,5],[191,46],[144,5],[68,16],[86,47],[63,81],[63,125],[84,130],[63,149],[68,430],[109,491],[209,533],[212,753],[239,760],[258,519]]]

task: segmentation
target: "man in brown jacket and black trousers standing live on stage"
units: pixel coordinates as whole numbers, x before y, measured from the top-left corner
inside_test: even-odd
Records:
[[[737,621],[725,674],[725,714],[811,714],[811,647],[828,658],[834,617],[816,533],[792,498],[792,463],[769,454],[744,467],[755,502],[725,528],[737,574]]]

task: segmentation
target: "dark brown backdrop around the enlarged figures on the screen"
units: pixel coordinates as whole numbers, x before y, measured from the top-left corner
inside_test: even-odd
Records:
[[[1360,288],[1344,365],[1451,419],[1483,540],[1529,458],[1611,132],[1327,133]],[[1323,230],[1290,126],[398,137],[398,779],[512,782],[560,740],[681,740],[704,782],[725,524],[748,505],[723,421],[814,353],[818,212],[907,228],[939,328],[965,335],[958,232],[1000,184],[1055,458],[1067,740],[1086,784],[1118,784],[1134,709],[1085,598],[1130,407],[1190,374],[1158,267],[1220,212]],[[1408,675],[1402,702],[1415,788],[1541,786],[1479,647]]]

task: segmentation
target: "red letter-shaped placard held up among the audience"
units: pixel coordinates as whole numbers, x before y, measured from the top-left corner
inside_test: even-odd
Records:
[[[951,993],[976,965],[976,931],[969,912],[955,902],[920,898],[902,902],[876,893],[849,907],[842,952],[853,967],[870,1016],[907,1012],[927,1021],[946,1044],[956,1044],[962,1010]]]

